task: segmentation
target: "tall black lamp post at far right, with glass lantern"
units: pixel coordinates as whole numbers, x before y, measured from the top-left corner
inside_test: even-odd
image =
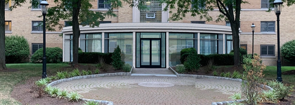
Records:
[[[280,14],[282,11],[282,0],[275,0],[273,5],[275,7],[276,21],[277,21],[277,36],[278,36],[278,60],[276,61],[276,80],[282,82],[281,60],[280,60]]]

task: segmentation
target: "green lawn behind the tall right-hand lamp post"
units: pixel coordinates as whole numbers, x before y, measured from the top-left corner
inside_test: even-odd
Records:
[[[282,66],[282,72],[295,70],[295,66]],[[266,79],[276,79],[276,66],[266,66],[263,72]],[[295,85],[295,75],[282,75],[283,83]]]

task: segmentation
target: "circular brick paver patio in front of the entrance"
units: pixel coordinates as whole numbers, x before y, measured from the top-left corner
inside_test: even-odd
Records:
[[[211,105],[229,101],[232,93],[241,92],[239,81],[169,76],[96,77],[55,87],[77,91],[87,99],[112,101],[114,105]]]

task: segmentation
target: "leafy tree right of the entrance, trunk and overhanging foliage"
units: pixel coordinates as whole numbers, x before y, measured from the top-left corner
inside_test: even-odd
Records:
[[[269,3],[273,3],[274,0],[269,0]],[[291,6],[295,3],[295,0],[282,0],[287,3],[287,6]],[[219,15],[215,22],[222,20],[228,20],[231,25],[233,35],[233,49],[234,50],[234,66],[240,66],[239,56],[239,21],[241,4],[248,3],[243,0],[163,0],[166,3],[164,11],[169,11],[172,16],[169,20],[177,21],[181,20],[186,16],[186,13],[191,13],[191,16],[200,16],[200,19],[205,18],[207,21],[212,21],[212,17],[208,11],[213,11],[214,8],[218,8]],[[190,7],[190,5],[192,6]],[[173,13],[173,9],[176,12]],[[269,10],[270,11],[270,10]]]

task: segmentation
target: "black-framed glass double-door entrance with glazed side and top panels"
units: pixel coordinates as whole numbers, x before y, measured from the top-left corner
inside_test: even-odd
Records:
[[[165,33],[136,33],[136,67],[165,68]]]

